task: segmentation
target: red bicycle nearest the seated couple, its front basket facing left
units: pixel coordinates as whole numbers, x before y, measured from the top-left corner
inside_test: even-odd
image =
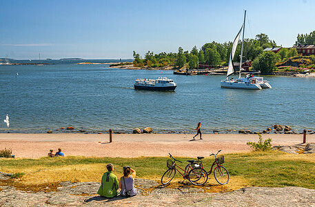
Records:
[[[208,175],[203,168],[192,168],[189,169],[189,171],[188,169],[184,170],[183,168],[176,164],[176,161],[179,160],[175,159],[170,153],[168,154],[170,155],[171,159],[167,159],[166,161],[166,166],[168,169],[164,172],[161,178],[161,184],[163,184],[163,186],[169,184],[170,181],[172,181],[176,174],[176,171],[178,171],[183,176],[184,180],[185,179],[189,180],[190,183],[192,183],[193,185],[202,186],[207,182]],[[183,163],[182,161],[179,162]],[[183,173],[181,173],[181,171],[178,168],[180,168],[183,171]]]

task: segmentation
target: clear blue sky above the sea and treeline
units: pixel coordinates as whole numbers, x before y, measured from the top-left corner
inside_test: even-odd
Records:
[[[245,38],[267,34],[292,46],[315,30],[315,1],[0,1],[0,57],[132,58],[232,41],[247,10]]]

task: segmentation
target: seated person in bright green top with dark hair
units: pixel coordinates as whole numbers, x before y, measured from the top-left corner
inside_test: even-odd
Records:
[[[118,179],[112,171],[114,170],[114,166],[112,164],[108,164],[106,166],[108,172],[105,172],[102,177],[101,186],[97,191],[97,194],[103,197],[115,197],[118,195],[117,190],[119,189]]]

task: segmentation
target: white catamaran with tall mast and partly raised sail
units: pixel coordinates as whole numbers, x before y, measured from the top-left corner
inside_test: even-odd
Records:
[[[263,80],[263,77],[254,77],[252,75],[247,75],[246,77],[241,77],[241,66],[243,61],[243,43],[244,43],[244,31],[245,31],[245,17],[246,17],[246,10],[244,14],[244,23],[241,26],[241,29],[237,33],[230,54],[229,66],[227,68],[227,75],[226,79],[221,81],[221,88],[241,88],[241,89],[254,89],[254,90],[261,90],[262,88],[272,88],[269,83]],[[233,66],[233,57],[238,45],[238,40],[241,36],[241,32],[243,29],[243,41],[242,41],[242,49],[241,49],[241,61],[240,61],[240,70],[238,79],[228,79],[230,75],[234,73],[234,66]]]

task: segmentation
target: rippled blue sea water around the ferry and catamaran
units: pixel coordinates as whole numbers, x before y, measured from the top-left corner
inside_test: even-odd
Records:
[[[15,74],[19,72],[16,78]],[[205,132],[272,124],[315,128],[315,79],[267,77],[272,89],[220,88],[222,76],[180,76],[175,92],[134,90],[137,78],[161,77],[157,70],[119,70],[103,65],[0,66],[0,118],[10,131],[43,132],[74,126],[90,130],[193,130]],[[7,129],[4,122],[0,131]]]

